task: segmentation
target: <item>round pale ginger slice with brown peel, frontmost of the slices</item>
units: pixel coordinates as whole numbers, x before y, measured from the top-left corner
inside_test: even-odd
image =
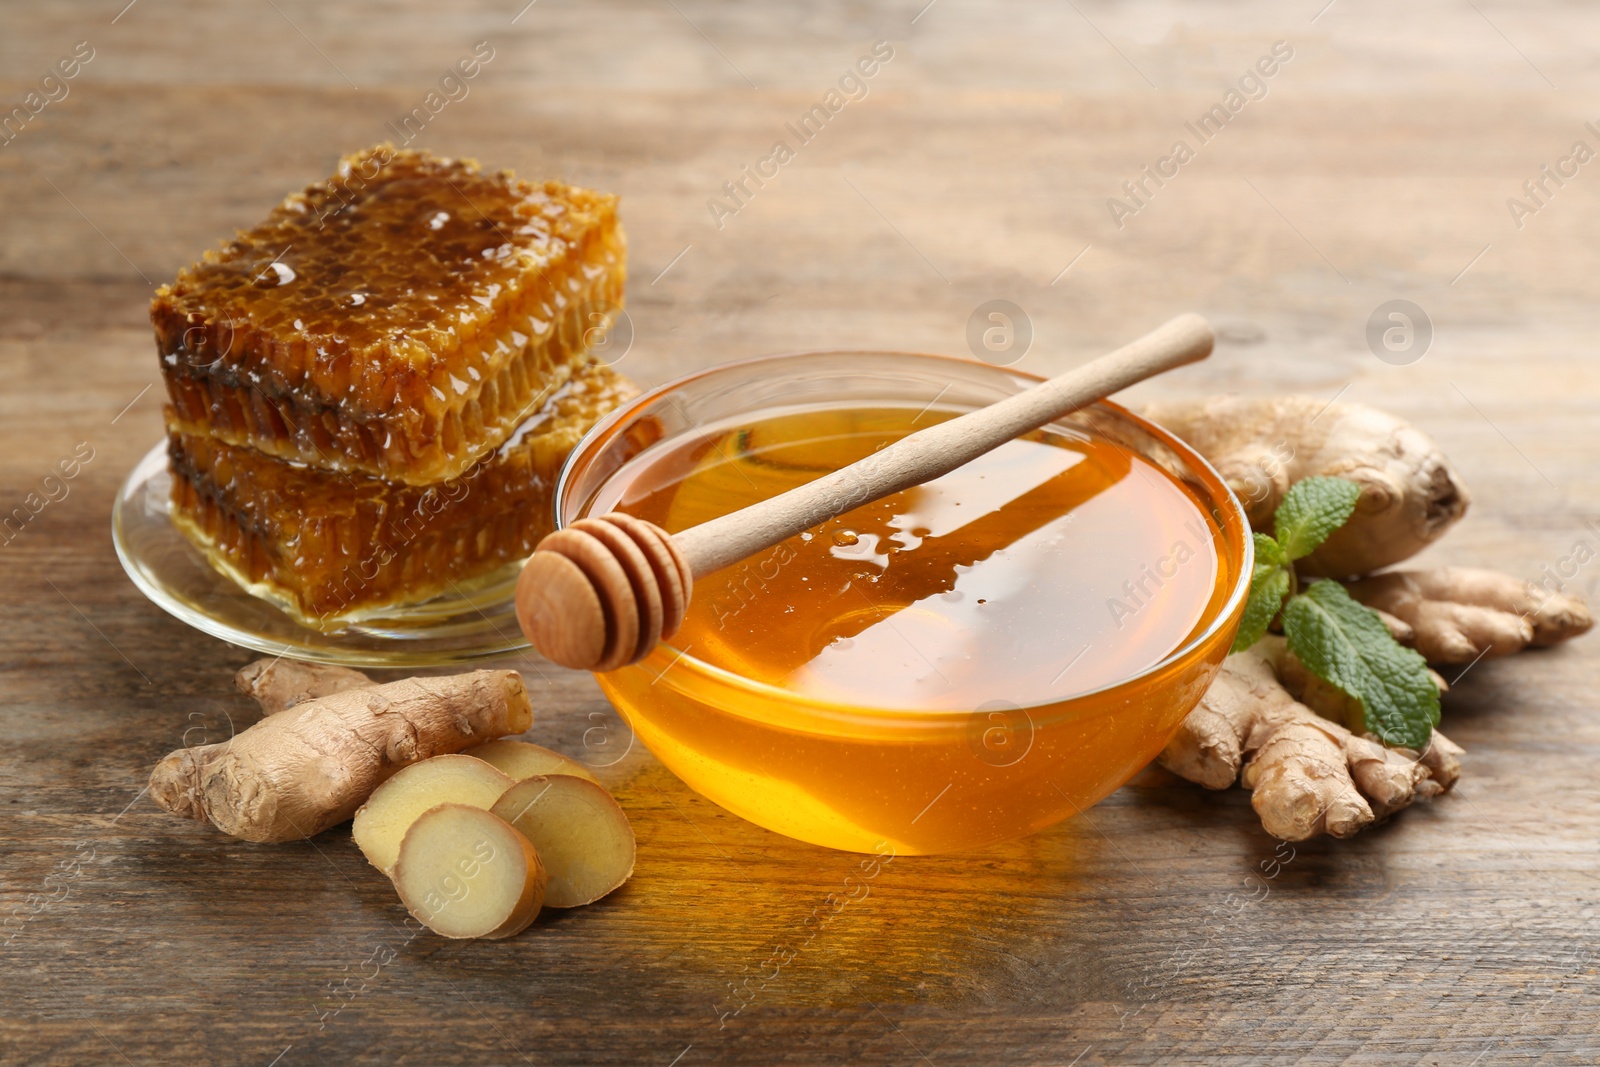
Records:
[[[395,889],[419,923],[445,937],[510,937],[544,904],[546,870],[522,833],[462,803],[419,814],[400,841]]]

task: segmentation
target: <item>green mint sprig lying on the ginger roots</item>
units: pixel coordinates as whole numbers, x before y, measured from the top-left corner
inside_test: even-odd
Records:
[[[1304,478],[1290,488],[1272,517],[1274,536],[1254,534],[1256,566],[1234,651],[1259,641],[1282,613],[1290,651],[1360,704],[1368,733],[1421,750],[1438,725],[1438,686],[1427,661],[1402,646],[1378,613],[1339,582],[1318,581],[1301,592],[1294,574],[1294,560],[1342,526],[1360,496],[1362,488],[1347,478]]]

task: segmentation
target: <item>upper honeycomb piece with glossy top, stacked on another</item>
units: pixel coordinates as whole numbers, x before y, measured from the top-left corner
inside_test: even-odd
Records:
[[[379,146],[150,304],[179,432],[430,485],[494,451],[622,304],[616,197]]]

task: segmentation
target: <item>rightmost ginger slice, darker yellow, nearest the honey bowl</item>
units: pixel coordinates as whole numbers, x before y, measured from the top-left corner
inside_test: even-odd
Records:
[[[594,904],[634,873],[634,827],[611,793],[590,781],[530,777],[490,811],[533,841],[550,873],[549,907]]]

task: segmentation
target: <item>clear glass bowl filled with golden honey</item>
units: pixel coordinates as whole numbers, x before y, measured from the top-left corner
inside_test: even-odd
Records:
[[[726,363],[573,451],[557,522],[678,531],[1038,379],[907,352]],[[950,853],[1118,789],[1227,654],[1251,571],[1238,501],[1101,402],[698,577],[683,625],[598,675],[691,789],[829,848]]]

